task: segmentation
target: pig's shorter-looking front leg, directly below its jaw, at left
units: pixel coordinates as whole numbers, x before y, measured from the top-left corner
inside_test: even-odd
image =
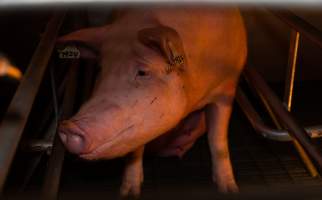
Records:
[[[140,195],[143,182],[143,153],[144,146],[132,152],[128,157],[120,189],[122,196],[138,197]]]

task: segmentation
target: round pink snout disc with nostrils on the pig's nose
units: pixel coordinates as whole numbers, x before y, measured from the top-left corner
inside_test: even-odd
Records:
[[[73,122],[63,121],[59,126],[59,136],[71,153],[82,154],[88,148],[84,132]]]

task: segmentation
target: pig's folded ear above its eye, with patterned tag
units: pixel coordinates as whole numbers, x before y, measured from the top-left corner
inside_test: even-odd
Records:
[[[181,37],[167,26],[145,28],[139,31],[138,39],[144,45],[158,50],[167,60],[166,71],[184,70],[187,64]]]

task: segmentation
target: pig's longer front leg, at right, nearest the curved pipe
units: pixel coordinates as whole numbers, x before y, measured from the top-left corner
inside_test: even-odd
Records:
[[[229,157],[227,136],[232,99],[223,97],[206,107],[208,142],[212,156],[212,179],[217,183],[220,192],[238,192]]]

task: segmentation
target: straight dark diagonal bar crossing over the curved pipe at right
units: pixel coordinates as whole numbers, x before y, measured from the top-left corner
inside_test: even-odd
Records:
[[[275,93],[269,88],[261,76],[252,68],[246,67],[244,70],[246,80],[257,93],[262,96],[266,103],[271,107],[274,114],[283,123],[283,126],[289,131],[289,133],[295,137],[299,143],[303,146],[305,151],[317,162],[322,168],[322,155],[317,148],[312,144],[306,131],[298,125],[291,114],[285,109],[283,104]]]

